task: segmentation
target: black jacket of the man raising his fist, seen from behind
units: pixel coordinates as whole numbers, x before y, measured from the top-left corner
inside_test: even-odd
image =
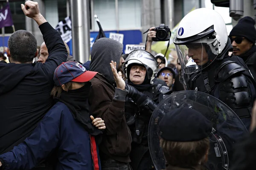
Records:
[[[49,23],[39,28],[49,51],[44,64],[0,63],[0,154],[23,142],[51,108],[53,74],[67,59],[58,31]]]

